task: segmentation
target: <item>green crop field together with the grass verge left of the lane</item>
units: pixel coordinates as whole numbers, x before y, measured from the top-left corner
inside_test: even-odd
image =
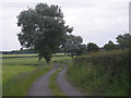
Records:
[[[52,57],[52,61],[50,65],[47,65],[44,59],[40,62],[38,62],[37,57],[29,58],[28,56],[37,56],[37,54],[3,54],[2,56],[2,57],[8,57],[5,59],[2,59],[2,85],[3,85],[4,96],[10,96],[10,95],[26,96],[27,89],[32,86],[34,81],[36,81],[40,75],[47,73],[49,70],[51,70],[55,66],[53,61],[70,59],[70,57],[68,56],[63,57],[62,54],[56,54],[56,57]],[[22,57],[22,58],[15,58],[15,57]],[[24,58],[24,57],[28,57],[28,58]],[[20,83],[21,83],[21,87],[20,87]]]

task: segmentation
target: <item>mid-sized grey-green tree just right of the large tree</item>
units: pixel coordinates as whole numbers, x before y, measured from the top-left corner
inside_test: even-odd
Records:
[[[68,35],[68,39],[66,44],[62,46],[63,51],[70,52],[71,58],[73,59],[73,56],[78,53],[78,50],[80,49],[82,42],[83,38],[81,36]]]

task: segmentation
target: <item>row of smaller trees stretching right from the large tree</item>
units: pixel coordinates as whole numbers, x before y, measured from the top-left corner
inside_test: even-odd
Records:
[[[123,34],[118,35],[116,37],[118,45],[114,44],[111,40],[108,44],[104,45],[104,47],[99,48],[94,42],[88,42],[87,45],[82,44],[83,38],[81,36],[75,35],[68,35],[68,39],[63,46],[59,48],[59,52],[70,53],[71,58],[73,56],[81,56],[85,52],[93,52],[93,51],[110,51],[116,49],[124,49],[131,47],[131,35]]]

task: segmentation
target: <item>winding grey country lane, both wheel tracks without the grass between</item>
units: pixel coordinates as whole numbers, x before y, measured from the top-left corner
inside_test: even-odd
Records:
[[[72,85],[69,84],[69,82],[66,79],[66,72],[67,72],[67,65],[63,65],[63,70],[59,72],[56,84],[59,86],[60,90],[63,91],[67,96],[83,96],[80,91],[78,91]],[[56,63],[56,66],[53,70],[49,71],[48,73],[44,74],[41,77],[36,79],[36,82],[33,84],[33,86],[28,90],[28,96],[52,96],[52,90],[49,88],[49,78],[52,73],[57,71],[57,69],[60,66],[58,63]],[[82,98],[83,98],[82,97]]]

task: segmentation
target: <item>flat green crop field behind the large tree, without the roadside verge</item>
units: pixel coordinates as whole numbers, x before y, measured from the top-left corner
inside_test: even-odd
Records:
[[[24,54],[8,54],[9,57],[21,57]],[[2,57],[8,57],[3,54]],[[34,56],[34,54],[25,54]],[[58,56],[58,54],[57,54]],[[70,57],[53,57],[52,61],[70,59]],[[2,83],[4,84],[13,76],[23,72],[36,70],[38,65],[46,65],[46,61],[38,62],[37,58],[8,58],[2,60]]]

